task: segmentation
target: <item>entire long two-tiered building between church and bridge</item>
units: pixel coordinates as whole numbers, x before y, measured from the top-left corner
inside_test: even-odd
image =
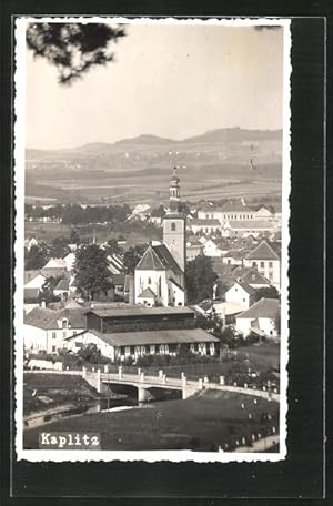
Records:
[[[95,344],[112,362],[138,360],[143,355],[176,355],[181,346],[192,353],[214,355],[219,340],[195,328],[195,313],[189,307],[92,308],[87,314],[87,331],[67,338],[67,347]]]

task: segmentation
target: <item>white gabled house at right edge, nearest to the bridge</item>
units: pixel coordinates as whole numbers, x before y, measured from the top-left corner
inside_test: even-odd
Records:
[[[261,337],[276,337],[280,334],[280,311],[278,298],[262,297],[236,316],[236,328],[245,337],[251,333]]]

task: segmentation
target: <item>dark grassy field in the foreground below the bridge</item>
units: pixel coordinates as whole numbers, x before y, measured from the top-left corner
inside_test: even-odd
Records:
[[[242,408],[242,403],[244,408]],[[249,419],[249,413],[252,419]],[[266,415],[270,415],[268,419]],[[186,401],[152,403],[145,408],[125,412],[87,414],[54,422],[48,432],[97,432],[102,449],[229,449],[236,441],[251,441],[279,427],[279,406],[262,398],[209,391]],[[37,448],[39,429],[24,432],[24,447]]]

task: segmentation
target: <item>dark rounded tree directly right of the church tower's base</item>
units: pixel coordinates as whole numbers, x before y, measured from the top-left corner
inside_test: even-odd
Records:
[[[218,279],[211,259],[196,256],[186,264],[186,289],[189,302],[198,303],[213,297],[213,286]]]

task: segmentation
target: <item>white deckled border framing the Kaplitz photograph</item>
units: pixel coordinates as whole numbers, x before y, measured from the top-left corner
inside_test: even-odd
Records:
[[[281,252],[281,385],[280,385],[280,452],[279,453],[219,453],[192,451],[46,451],[23,449],[23,241],[24,241],[24,168],[26,168],[26,27],[28,22],[110,22],[133,24],[205,24],[226,27],[281,26],[283,27],[283,170],[282,170],[282,252]],[[16,183],[16,293],[14,293],[14,373],[16,373],[16,452],[17,458],[30,462],[279,462],[286,456],[287,361],[289,361],[289,243],[291,191],[291,20],[290,19],[173,19],[111,18],[111,17],[19,17],[16,20],[16,99],[14,112],[14,183]]]

